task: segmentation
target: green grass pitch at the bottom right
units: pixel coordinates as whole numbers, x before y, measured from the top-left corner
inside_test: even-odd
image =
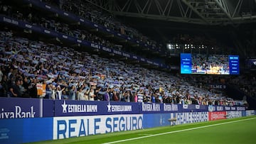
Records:
[[[256,116],[49,140],[35,144],[39,143],[254,144],[256,143]]]

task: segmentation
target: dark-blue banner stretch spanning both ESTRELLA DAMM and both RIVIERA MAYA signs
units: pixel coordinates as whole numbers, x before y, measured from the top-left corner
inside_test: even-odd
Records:
[[[110,114],[170,113],[182,110],[178,104],[133,103],[117,101],[55,101],[55,116],[92,116]]]

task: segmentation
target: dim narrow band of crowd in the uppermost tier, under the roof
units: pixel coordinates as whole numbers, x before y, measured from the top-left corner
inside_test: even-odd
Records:
[[[60,9],[64,11],[69,11],[71,13],[75,13],[75,15],[80,16],[82,18],[86,18],[93,23],[97,23],[101,26],[105,26],[113,31],[117,31],[122,35],[127,35],[129,38],[134,38],[139,40],[146,45],[150,45],[154,48],[159,48],[160,50],[166,50],[165,47],[161,43],[156,43],[156,41],[151,40],[150,38],[142,35],[136,29],[126,26],[124,23],[118,21],[111,13],[107,13],[107,11],[103,11],[99,9],[97,6],[90,4],[87,1],[52,1],[52,0],[43,0],[48,4],[52,4],[58,6]]]

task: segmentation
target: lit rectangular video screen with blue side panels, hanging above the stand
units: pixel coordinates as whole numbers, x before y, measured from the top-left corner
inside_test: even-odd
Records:
[[[238,55],[181,53],[181,74],[239,74]]]

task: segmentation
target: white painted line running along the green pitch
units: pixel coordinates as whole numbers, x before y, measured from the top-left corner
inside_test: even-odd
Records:
[[[117,141],[112,141],[112,142],[102,143],[102,144],[120,143],[120,142],[129,141],[129,140],[138,140],[138,139],[149,138],[149,137],[158,136],[158,135],[166,135],[166,134],[169,134],[169,133],[178,133],[178,132],[182,132],[182,131],[191,131],[191,130],[196,130],[196,129],[200,129],[200,128],[208,128],[208,127],[211,127],[211,126],[219,126],[219,125],[228,124],[228,123],[248,121],[248,120],[251,120],[251,119],[255,119],[255,118],[247,118],[247,119],[242,119],[242,120],[238,120],[238,121],[228,121],[228,122],[225,122],[225,123],[216,123],[216,124],[212,124],[212,125],[208,125],[208,126],[200,126],[200,127],[197,127],[197,128],[188,128],[188,129],[183,129],[183,130],[178,130],[178,131],[169,131],[169,132],[166,132],[166,133],[158,133],[158,134],[154,134],[154,135],[145,135],[145,136],[142,136],[142,137],[129,138],[129,139],[124,139],[124,140],[117,140]]]

